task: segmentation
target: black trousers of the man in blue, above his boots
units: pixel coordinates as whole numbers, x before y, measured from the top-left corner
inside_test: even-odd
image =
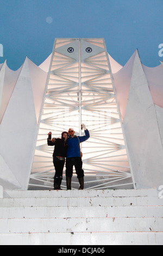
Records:
[[[66,159],[66,176],[72,178],[73,166],[76,169],[77,178],[84,177],[84,170],[82,169],[83,162],[81,157],[68,157]]]

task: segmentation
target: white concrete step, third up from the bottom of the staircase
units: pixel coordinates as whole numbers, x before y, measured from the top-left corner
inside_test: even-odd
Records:
[[[3,207],[0,218],[162,217],[162,206]]]

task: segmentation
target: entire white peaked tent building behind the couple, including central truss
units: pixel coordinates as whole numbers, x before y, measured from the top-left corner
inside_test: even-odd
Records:
[[[81,123],[91,135],[82,145],[86,189],[162,185],[163,65],[142,65],[137,50],[122,67],[104,39],[55,39],[40,66],[28,58],[17,71],[0,64],[0,106],[6,189],[51,189],[47,133],[74,127],[82,135]]]

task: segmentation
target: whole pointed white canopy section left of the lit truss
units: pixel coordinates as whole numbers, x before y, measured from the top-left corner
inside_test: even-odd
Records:
[[[47,73],[28,58],[17,71],[6,66],[4,74],[3,67],[0,161],[1,173],[5,175],[0,174],[0,179],[6,183],[14,176],[17,182],[12,178],[13,184],[27,189]]]

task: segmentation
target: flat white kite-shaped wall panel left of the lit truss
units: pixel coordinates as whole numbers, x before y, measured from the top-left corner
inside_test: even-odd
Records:
[[[36,128],[34,98],[26,58],[0,126],[0,154],[22,189],[27,188]]]

